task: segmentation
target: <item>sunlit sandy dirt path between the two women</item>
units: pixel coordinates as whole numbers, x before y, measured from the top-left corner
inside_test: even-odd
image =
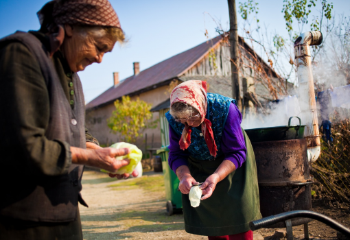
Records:
[[[162,180],[161,173],[151,173],[152,176],[142,178]],[[135,179],[113,180],[105,173],[84,172],[82,196],[89,204],[89,208],[80,206],[84,240],[207,239],[187,234],[183,230],[183,215],[165,214],[164,191],[145,191],[128,185],[132,182]],[[108,187],[115,183],[121,186]]]

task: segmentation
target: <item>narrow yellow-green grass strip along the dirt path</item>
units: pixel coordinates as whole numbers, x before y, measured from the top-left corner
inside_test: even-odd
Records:
[[[141,187],[146,191],[164,191],[163,176],[142,176],[125,182],[108,185],[108,187],[117,188],[116,190],[127,190]]]

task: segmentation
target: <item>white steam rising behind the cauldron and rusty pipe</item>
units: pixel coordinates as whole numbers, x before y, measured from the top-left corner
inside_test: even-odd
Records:
[[[315,82],[315,95],[320,91],[329,91],[331,108],[327,117],[331,121],[342,121],[350,117],[350,85],[347,84],[347,77],[341,72],[334,69],[334,65],[324,64],[323,62],[313,63],[313,75]],[[298,88],[296,88],[298,93]],[[302,101],[301,99],[305,99]],[[320,118],[320,108],[326,106],[320,105],[320,99],[316,101],[318,109],[318,125],[322,123]],[[301,110],[309,109],[307,97],[299,98],[296,95],[284,97],[278,102],[267,104],[264,112],[255,112],[250,110],[244,115],[242,128],[270,128],[276,126],[288,125],[290,117],[300,117],[301,125],[305,125],[305,119],[301,117]],[[334,115],[337,114],[335,119]],[[323,115],[324,116],[324,115]],[[293,118],[291,125],[299,125],[299,120]]]

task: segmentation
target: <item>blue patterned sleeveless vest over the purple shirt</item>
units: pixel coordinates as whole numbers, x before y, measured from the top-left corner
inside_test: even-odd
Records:
[[[211,128],[213,129],[215,143],[218,147],[218,152],[216,154],[216,158],[218,158],[222,155],[222,130],[224,130],[226,118],[229,114],[230,104],[231,102],[233,102],[233,104],[236,104],[236,100],[229,97],[224,97],[217,93],[207,93],[207,99],[208,108],[207,115],[205,116],[205,118],[211,121]],[[183,123],[176,122],[174,117],[170,115],[170,112],[165,113],[165,117],[167,118],[167,121],[170,123],[175,132],[179,136],[181,136],[185,125]],[[189,154],[194,158],[200,160],[214,160],[214,157],[210,155],[207,143],[205,143],[204,136],[200,136],[201,131],[197,128],[191,128],[191,130],[191,144],[187,148]]]

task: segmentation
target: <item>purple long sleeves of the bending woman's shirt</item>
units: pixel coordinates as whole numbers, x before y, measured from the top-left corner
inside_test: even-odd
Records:
[[[230,105],[229,114],[227,115],[224,130],[222,131],[221,149],[224,153],[225,160],[230,160],[237,168],[241,167],[246,160],[246,144],[241,130],[242,115],[235,104]],[[213,123],[215,124],[215,123]],[[189,157],[188,150],[180,149],[178,142],[180,136],[169,125],[170,145],[169,145],[169,165],[176,172],[180,166],[187,165]],[[194,156],[196,157],[196,156]]]

